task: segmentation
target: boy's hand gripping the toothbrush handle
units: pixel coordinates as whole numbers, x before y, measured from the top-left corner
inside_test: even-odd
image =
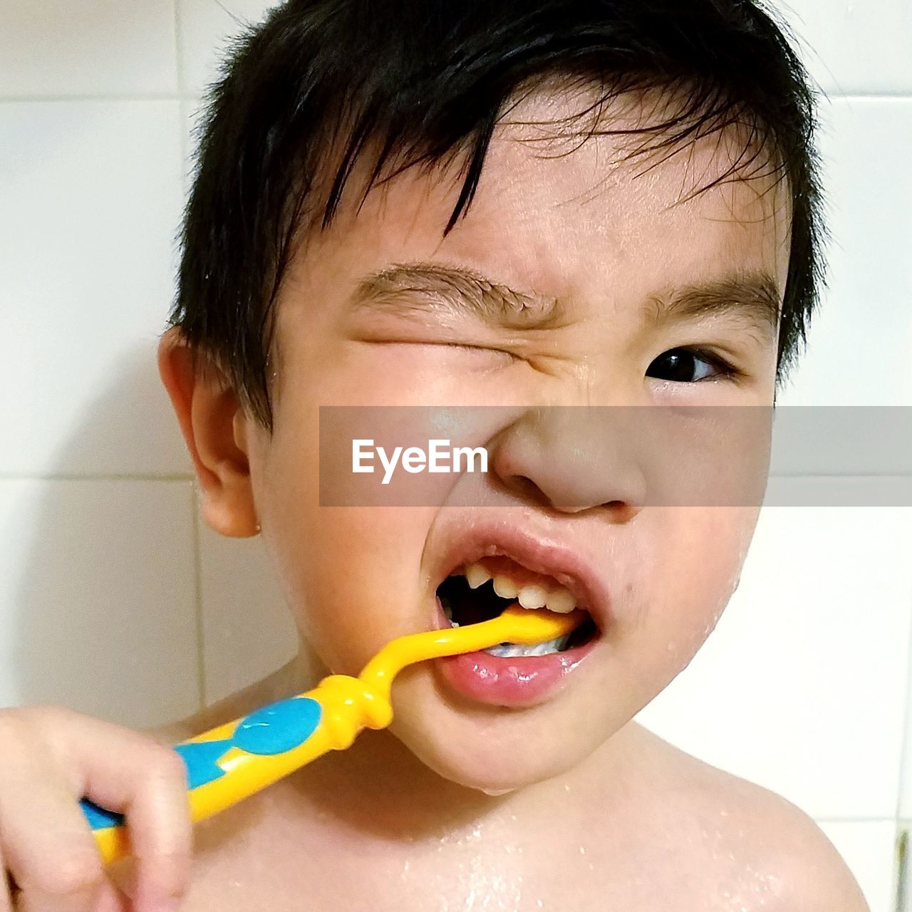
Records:
[[[126,817],[130,896],[102,864],[83,797]],[[0,709],[0,912],[176,909],[191,855],[176,751],[63,707]]]

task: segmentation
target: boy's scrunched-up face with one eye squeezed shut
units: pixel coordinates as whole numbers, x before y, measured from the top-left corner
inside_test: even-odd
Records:
[[[509,119],[578,109],[578,99],[540,95]],[[637,126],[640,110],[617,108],[609,126]],[[528,141],[547,130],[498,128],[469,213],[446,239],[455,171],[407,171],[357,214],[360,187],[347,192],[280,295],[275,432],[235,416],[249,478],[225,475],[204,507],[224,529],[244,498],[244,515],[254,504],[295,621],[335,672],[357,674],[390,639],[443,626],[441,580],[492,550],[505,556],[489,567],[520,582],[523,566],[545,586],[564,573],[586,594],[599,633],[569,658],[439,661],[400,676],[392,731],[443,776],[485,789],[569,769],[687,665],[736,586],[758,512],[644,507],[624,440],[590,448],[587,425],[561,423],[568,409],[535,420],[531,409],[770,406],[775,326],[737,306],[658,318],[658,301],[762,272],[781,297],[788,259],[787,202],[770,181],[730,181],[678,202],[726,171],[737,143],[714,135],[634,179],[658,160],[618,161],[628,147],[617,137],[579,148]],[[416,263],[468,267],[557,299],[559,318],[523,327],[454,295],[428,303],[395,290],[382,305],[353,305],[368,274]],[[719,376],[698,359],[691,378],[685,358],[668,379],[668,360],[656,359],[679,347],[704,348],[738,373]],[[488,446],[491,471],[446,476],[442,505],[321,507],[321,405],[504,408],[474,441]]]

